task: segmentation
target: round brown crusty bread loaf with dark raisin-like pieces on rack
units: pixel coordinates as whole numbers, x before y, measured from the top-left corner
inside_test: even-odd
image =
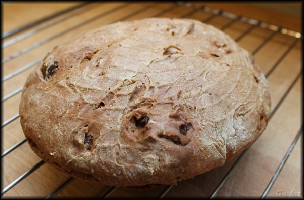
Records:
[[[222,31],[148,18],[55,47],[29,75],[20,117],[32,150],[74,177],[170,185],[256,141],[270,94],[250,53]]]

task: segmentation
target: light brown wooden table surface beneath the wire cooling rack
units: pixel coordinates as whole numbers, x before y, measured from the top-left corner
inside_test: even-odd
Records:
[[[152,16],[187,17],[204,21],[235,39],[239,45],[255,57],[270,85],[272,116],[262,136],[240,159],[193,179],[181,181],[164,197],[209,197],[227,172],[230,178],[217,191],[215,197],[260,197],[267,189],[287,152],[290,153],[267,197],[286,197],[302,194],[301,157],[301,51],[300,19],[288,18],[279,13],[266,12],[241,3],[205,3],[211,8],[257,19],[267,24],[281,26],[278,31],[247,23],[242,18],[231,19],[205,10],[204,3],[192,5],[175,3],[13,3],[3,5],[3,57],[2,57],[2,196],[39,197],[49,196],[56,188],[62,190],[54,198],[102,197],[111,189],[108,186],[87,183],[81,179],[62,184],[70,176],[44,164],[24,142],[18,117],[21,91],[26,77],[35,62],[58,44],[89,29],[116,21],[134,20]],[[63,12],[65,11],[65,12]],[[54,15],[54,16],[53,16]],[[51,16],[51,17],[50,17]],[[45,19],[46,20],[41,20]],[[20,29],[32,22],[33,24]],[[251,20],[252,22],[252,20]],[[263,23],[262,23],[263,24]],[[275,27],[275,26],[269,26]],[[19,28],[13,35],[11,30]],[[275,28],[273,28],[275,29]],[[295,32],[294,32],[295,31]],[[286,34],[287,33],[287,34]],[[290,36],[291,35],[293,36]],[[289,35],[288,35],[289,34]],[[295,37],[296,36],[296,37]],[[12,92],[16,91],[13,95]],[[16,119],[12,119],[12,117]],[[7,121],[8,120],[8,121]],[[300,130],[301,129],[301,130]],[[300,134],[298,134],[300,133]],[[299,136],[298,141],[294,141]],[[21,141],[14,150],[7,150]],[[294,147],[294,148],[293,148]],[[292,150],[292,151],[291,151]],[[5,153],[5,154],[3,154]],[[237,162],[236,162],[237,161]],[[32,169],[37,163],[41,166]],[[234,165],[235,164],[235,165]],[[31,171],[32,173],[27,173]],[[20,182],[19,177],[25,173]],[[12,188],[8,185],[17,180]],[[162,194],[166,186],[146,192],[127,191],[116,188],[108,198],[149,197]],[[4,193],[5,192],[5,193]],[[3,194],[4,193],[4,194]]]

